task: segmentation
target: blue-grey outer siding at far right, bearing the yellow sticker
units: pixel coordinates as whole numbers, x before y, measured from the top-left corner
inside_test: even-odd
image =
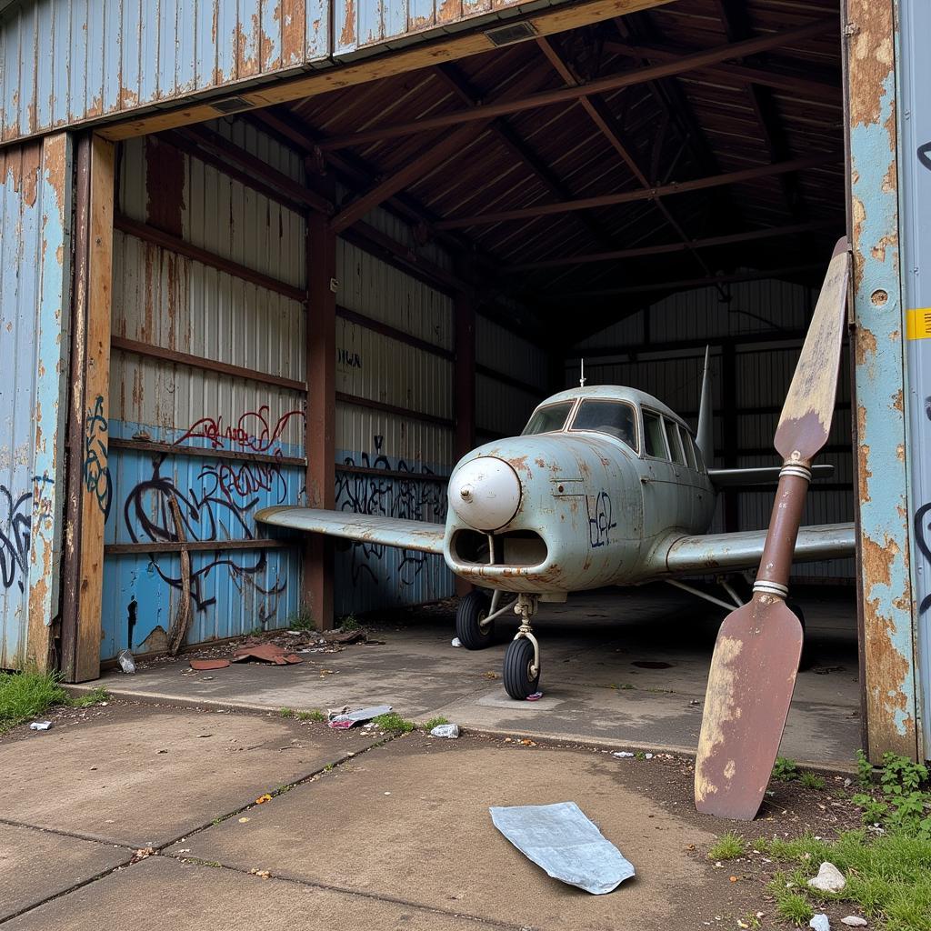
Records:
[[[924,0],[901,0],[899,39],[900,163],[898,176],[902,230],[904,310],[931,307],[931,58],[925,40],[931,34],[931,7]],[[921,275],[924,266],[924,277]],[[905,409],[908,413],[906,460],[910,467],[909,514],[912,533],[912,611],[917,628],[916,668],[920,683],[920,747],[931,758],[931,340],[907,344]]]

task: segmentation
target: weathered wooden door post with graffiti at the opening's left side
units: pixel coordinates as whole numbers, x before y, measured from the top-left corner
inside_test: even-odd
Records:
[[[90,141],[88,297],[84,398],[75,415],[82,423],[82,450],[72,468],[83,476],[81,547],[77,586],[74,681],[101,673],[103,528],[113,499],[109,467],[110,319],[114,241],[114,144]],[[73,451],[74,452],[74,451]]]

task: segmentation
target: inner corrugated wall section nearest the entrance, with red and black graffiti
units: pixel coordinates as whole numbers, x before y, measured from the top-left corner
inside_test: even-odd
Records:
[[[226,122],[213,128],[301,177],[296,155],[251,128]],[[123,145],[119,178],[118,210],[129,220],[303,289],[301,216],[155,141]],[[256,508],[301,500],[304,394],[127,351],[120,341],[301,383],[304,305],[144,236],[116,232],[113,334],[114,496],[105,534],[101,658],[126,647],[164,648],[181,595],[179,557],[125,545],[157,550],[175,539],[172,500],[187,539],[218,546],[192,554],[188,641],[284,626],[300,605],[299,549],[227,547],[257,535]],[[193,454],[192,447],[212,454]]]

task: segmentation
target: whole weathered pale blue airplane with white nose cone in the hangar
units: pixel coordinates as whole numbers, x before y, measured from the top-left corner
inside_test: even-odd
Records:
[[[834,360],[835,381],[836,371]],[[508,612],[518,616],[503,677],[515,699],[538,689],[540,645],[531,619],[541,601],[666,580],[727,610],[743,605],[722,574],[759,566],[767,532],[707,533],[715,496],[728,485],[775,484],[781,473],[779,466],[706,465],[712,455],[708,352],[695,434],[651,395],[584,382],[546,398],[519,437],[486,443],[459,461],[445,525],[297,506],[267,507],[256,519],[442,554],[452,573],[477,587],[456,614],[463,646],[492,645],[495,623]],[[812,471],[823,474],[830,466]],[[803,527],[789,549],[797,562],[854,551],[852,523]],[[719,576],[734,604],[682,581],[708,574]]]

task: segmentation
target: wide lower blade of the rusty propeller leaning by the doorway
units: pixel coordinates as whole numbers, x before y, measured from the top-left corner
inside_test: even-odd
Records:
[[[718,631],[695,759],[695,808],[752,820],[776,762],[802,655],[785,601],[755,598]]]

